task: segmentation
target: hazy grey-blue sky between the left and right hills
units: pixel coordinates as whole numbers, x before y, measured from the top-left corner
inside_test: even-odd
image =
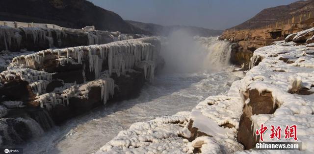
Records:
[[[89,0],[125,20],[226,29],[297,0]]]

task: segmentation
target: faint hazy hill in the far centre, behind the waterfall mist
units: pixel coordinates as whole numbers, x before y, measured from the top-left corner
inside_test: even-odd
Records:
[[[148,31],[153,35],[161,35],[168,36],[172,31],[183,29],[192,35],[199,36],[218,36],[223,32],[222,30],[212,30],[201,27],[194,26],[181,26],[181,25],[173,25],[173,26],[163,26],[155,23],[143,23],[143,22],[135,22],[135,21],[126,21],[132,24],[135,27],[138,27],[144,31]]]

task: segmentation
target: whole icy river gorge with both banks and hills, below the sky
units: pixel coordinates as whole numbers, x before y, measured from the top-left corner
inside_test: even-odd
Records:
[[[313,0],[265,9],[220,36],[124,21],[85,0],[15,2],[0,2],[1,151],[314,152]],[[23,15],[25,3],[33,12]],[[271,138],[274,126],[283,130]],[[257,149],[264,142],[301,146]]]

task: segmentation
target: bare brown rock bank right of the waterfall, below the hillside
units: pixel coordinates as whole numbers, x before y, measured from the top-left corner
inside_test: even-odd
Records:
[[[231,63],[249,68],[250,58],[256,49],[282,41],[292,33],[296,33],[314,26],[314,18],[309,18],[300,23],[289,23],[274,26],[263,26],[257,29],[233,30],[228,29],[222,33],[220,40],[233,43]]]

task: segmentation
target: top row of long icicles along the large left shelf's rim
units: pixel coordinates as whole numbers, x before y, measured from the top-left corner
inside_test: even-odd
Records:
[[[45,55],[52,55],[58,59],[60,65],[66,63],[74,64],[86,60],[89,62],[89,71],[95,72],[95,77],[99,78],[106,66],[111,75],[113,72],[125,74],[126,70],[132,69],[135,65],[140,66],[145,71],[145,78],[152,81],[154,78],[155,62],[158,55],[156,49],[156,38],[143,38],[136,40],[126,40],[102,45],[78,46],[64,49],[48,49],[30,55],[22,55],[12,60],[10,69],[17,66],[27,66],[38,69],[45,62]]]

